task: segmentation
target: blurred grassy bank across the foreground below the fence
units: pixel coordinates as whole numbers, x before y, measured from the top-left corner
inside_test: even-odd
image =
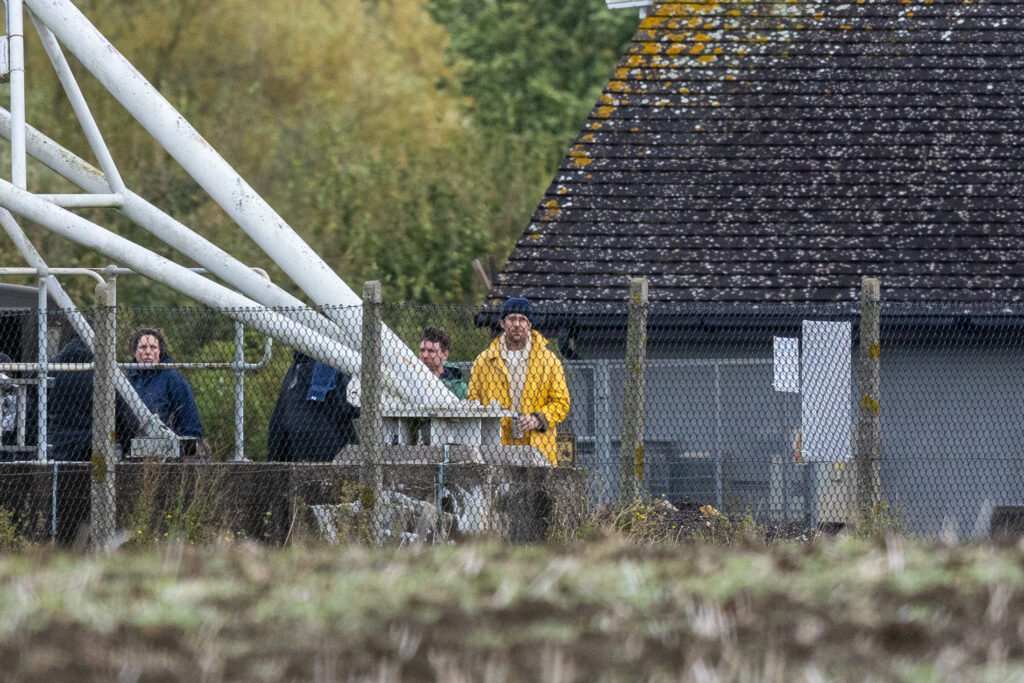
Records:
[[[4,680],[1004,680],[1024,548],[224,544],[0,558]]]

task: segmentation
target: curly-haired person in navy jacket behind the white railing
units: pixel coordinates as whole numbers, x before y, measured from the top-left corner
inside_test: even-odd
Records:
[[[138,364],[174,362],[167,341],[156,328],[139,328],[129,343]],[[203,425],[188,380],[170,368],[140,368],[128,373],[128,381],[151,412],[178,436],[203,438]]]

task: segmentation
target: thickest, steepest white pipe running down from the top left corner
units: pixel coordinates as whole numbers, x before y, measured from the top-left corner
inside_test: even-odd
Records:
[[[68,0],[27,0],[27,6],[78,57],[171,157],[245,230],[281,269],[335,319],[351,346],[358,348],[361,325],[346,329],[347,311],[359,297],[309,245],[240,176],[160,92],[118,52]],[[173,287],[173,285],[172,285]],[[414,404],[450,405],[455,395],[386,327],[384,366]]]

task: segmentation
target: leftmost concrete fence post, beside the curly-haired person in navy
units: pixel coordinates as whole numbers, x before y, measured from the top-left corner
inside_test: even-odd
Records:
[[[96,322],[92,372],[92,467],[89,477],[90,545],[99,550],[114,538],[115,498],[115,344],[117,309],[114,286],[96,285]]]

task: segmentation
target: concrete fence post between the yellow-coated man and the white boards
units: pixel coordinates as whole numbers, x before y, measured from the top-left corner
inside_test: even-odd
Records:
[[[626,333],[626,390],[623,398],[622,483],[620,502],[639,502],[643,494],[643,435],[646,416],[647,280],[630,281],[629,329]],[[626,498],[629,497],[629,498]]]

